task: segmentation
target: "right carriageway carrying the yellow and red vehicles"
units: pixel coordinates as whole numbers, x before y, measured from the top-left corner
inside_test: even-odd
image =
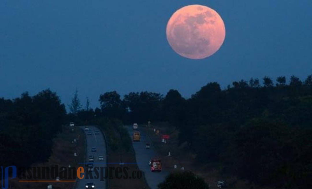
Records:
[[[133,135],[133,126],[126,125],[124,126],[127,128],[130,137]],[[133,142],[132,145],[135,151],[135,159],[138,163],[139,169],[144,172],[146,182],[148,183],[151,189],[157,189],[157,185],[160,182],[163,182],[166,176],[169,174],[168,170],[162,168],[162,172],[151,172],[149,167],[149,160],[152,157],[156,157],[157,153],[154,146],[150,145],[150,149],[145,149],[146,143],[151,144],[150,139],[147,138],[145,133],[138,128],[138,131],[141,133],[141,141],[140,142]]]

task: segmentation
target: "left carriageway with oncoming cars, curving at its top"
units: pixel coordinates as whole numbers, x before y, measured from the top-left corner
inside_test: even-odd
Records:
[[[86,136],[86,159],[85,162],[88,162],[88,157],[89,155],[93,155],[94,156],[94,163],[93,166],[94,167],[106,167],[106,163],[107,163],[107,158],[106,158],[106,146],[105,146],[105,139],[104,136],[102,134],[102,132],[100,132],[100,134],[95,134],[95,130],[99,130],[99,128],[97,128],[96,126],[88,126],[90,131],[91,131],[91,135],[87,135],[86,133],[88,131],[85,131],[85,126],[80,126],[81,129],[83,129],[83,131],[85,132],[85,136]],[[96,148],[96,152],[91,152],[91,148],[95,147]],[[104,161],[99,161],[99,156],[103,156],[104,157]],[[84,162],[81,162],[84,163]],[[81,167],[85,167],[85,164],[80,164]],[[85,170],[85,172],[87,172],[87,170]],[[100,171],[99,171],[100,172]],[[92,172],[93,177],[95,177],[95,173]],[[85,184],[87,182],[93,182],[95,184],[95,189],[105,189],[106,188],[106,182],[107,180],[104,179],[104,181],[100,181],[100,178],[95,179],[95,178],[88,178],[86,179],[86,175],[83,179],[78,179],[77,183],[76,183],[76,189],[85,189]]]

